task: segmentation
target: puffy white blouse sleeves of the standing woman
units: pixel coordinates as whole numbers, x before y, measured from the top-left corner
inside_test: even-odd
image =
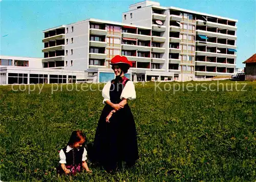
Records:
[[[111,87],[111,81],[107,82],[102,89],[102,97],[104,98],[103,104],[105,103],[105,101],[110,100],[110,87]],[[123,98],[129,99],[129,100],[136,99],[135,87],[131,80],[126,82],[122,90],[120,99],[123,99]]]

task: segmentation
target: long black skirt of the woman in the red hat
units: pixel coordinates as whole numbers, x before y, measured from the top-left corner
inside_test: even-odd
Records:
[[[133,165],[138,159],[137,133],[129,105],[113,113],[110,123],[106,123],[111,110],[110,105],[104,106],[93,144],[93,158],[106,170],[115,169],[120,161]]]

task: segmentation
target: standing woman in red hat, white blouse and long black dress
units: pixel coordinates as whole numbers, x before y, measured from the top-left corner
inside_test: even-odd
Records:
[[[105,104],[93,144],[94,159],[106,171],[117,164],[133,166],[138,159],[138,145],[134,117],[127,100],[136,99],[134,84],[124,76],[132,63],[124,56],[115,56],[111,63],[116,78],[105,84],[102,90]]]

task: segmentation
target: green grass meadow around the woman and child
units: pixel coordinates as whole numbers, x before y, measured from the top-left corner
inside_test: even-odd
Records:
[[[202,84],[187,82],[184,86],[188,83]],[[205,85],[210,83],[217,84]],[[234,84],[220,83],[229,89]],[[219,92],[203,92],[204,88],[198,86],[195,91],[194,86],[194,92],[174,94],[173,89],[155,92],[155,83],[138,83],[137,99],[129,102],[138,132],[136,166],[114,175],[91,168],[92,174],[80,173],[71,179],[255,181],[256,83],[239,83],[247,84],[246,92],[237,92],[234,87],[232,92],[222,91],[222,87]],[[164,88],[164,83],[160,87]],[[63,85],[62,92],[51,94],[51,85],[44,85],[40,94],[38,89],[28,94],[0,86],[1,180],[70,180],[56,175],[58,150],[76,129],[84,131],[92,143],[102,108],[100,91],[68,92]]]

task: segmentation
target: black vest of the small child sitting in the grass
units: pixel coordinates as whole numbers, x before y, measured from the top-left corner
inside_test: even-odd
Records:
[[[64,147],[62,150],[66,155],[66,165],[78,165],[82,163],[83,147],[80,147],[79,150],[73,148],[69,152],[67,152],[67,147]]]

